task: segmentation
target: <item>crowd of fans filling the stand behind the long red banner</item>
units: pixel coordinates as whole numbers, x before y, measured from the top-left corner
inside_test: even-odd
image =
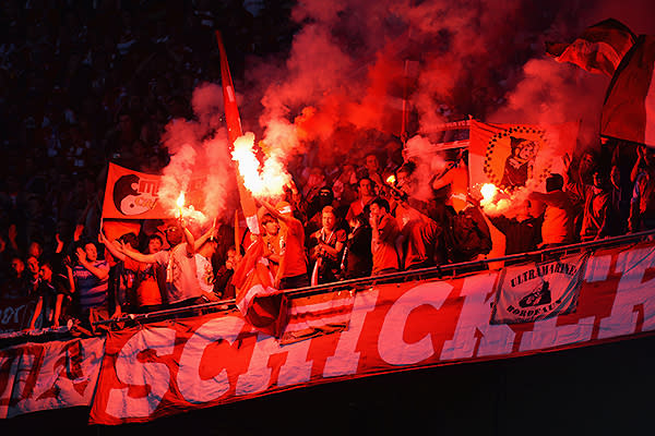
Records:
[[[252,235],[245,232],[237,246],[231,223],[203,234],[183,220],[144,223],[117,241],[100,231],[108,161],[159,173],[168,162],[159,148],[164,126],[189,116],[201,78],[219,81],[218,62],[191,49],[212,40],[214,21],[250,35],[228,45],[235,50],[279,45],[288,34],[263,35],[246,10],[221,17],[205,3],[152,8],[147,16],[110,1],[4,3],[0,298],[32,299],[27,329],[69,319],[93,329],[126,313],[235,296],[233,276]],[[492,249],[490,223],[504,234],[505,254],[655,228],[655,160],[643,147],[607,143],[567,159],[546,193],[529,194],[507,216],[487,215],[472,198],[464,150],[443,157],[427,199],[417,195],[425,186],[416,162],[404,161],[401,142],[384,135],[345,161],[293,160],[283,201],[261,201],[259,210],[274,286],[478,259]]]

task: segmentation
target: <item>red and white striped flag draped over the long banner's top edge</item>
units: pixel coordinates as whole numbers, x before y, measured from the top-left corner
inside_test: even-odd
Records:
[[[281,343],[293,343],[348,328],[354,292],[341,290],[290,299]]]

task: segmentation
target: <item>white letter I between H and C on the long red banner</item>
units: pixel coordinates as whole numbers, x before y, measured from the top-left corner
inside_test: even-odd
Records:
[[[357,292],[353,303],[353,314],[348,329],[342,331],[336,343],[334,355],[325,360],[323,377],[338,377],[342,375],[353,375],[357,373],[359,366],[359,351],[355,351],[357,340],[364,328],[364,320],[369,312],[376,308],[379,291],[370,289],[368,291]]]

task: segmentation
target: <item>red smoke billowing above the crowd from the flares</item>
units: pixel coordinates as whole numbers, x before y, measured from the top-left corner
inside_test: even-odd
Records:
[[[364,164],[357,159],[365,150],[401,138],[404,108],[406,131],[416,136],[405,155],[420,162],[424,182],[443,167],[433,146],[443,140],[439,124],[468,116],[579,121],[580,147],[596,147],[608,80],[546,58],[544,43],[570,41],[608,17],[655,34],[654,9],[647,0],[303,0],[291,13],[298,31],[290,50],[247,59],[246,76],[236,81],[248,96],[243,124],[261,129],[261,171],[276,175],[295,155],[308,155],[308,166]],[[176,120],[166,131],[174,157],[164,201],[175,207],[192,175],[206,170],[221,177],[207,181],[203,211],[221,215],[234,187],[223,174],[234,165],[219,87],[199,87],[193,110],[194,121]]]

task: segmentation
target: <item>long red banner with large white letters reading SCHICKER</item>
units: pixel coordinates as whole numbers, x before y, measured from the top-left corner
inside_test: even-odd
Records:
[[[347,328],[281,344],[235,311],[107,337],[91,422],[145,422],[308,385],[598,343],[655,329],[653,244],[596,252],[576,310],[489,323],[501,271],[371,287]]]

